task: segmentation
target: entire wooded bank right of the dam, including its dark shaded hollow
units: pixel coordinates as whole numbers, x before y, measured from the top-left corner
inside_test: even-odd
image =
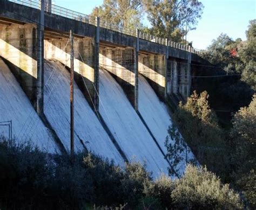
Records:
[[[166,146],[167,158],[176,165],[191,161],[176,155],[184,145],[190,148],[200,165],[223,183],[231,183],[246,206],[255,209],[256,20],[250,21],[246,35],[246,41],[234,41],[221,34],[201,53],[214,67],[199,68],[201,75],[210,77],[197,79],[194,89],[200,94],[194,91],[185,104],[179,104]],[[218,75],[227,76],[214,78]],[[219,110],[227,110],[228,117]]]

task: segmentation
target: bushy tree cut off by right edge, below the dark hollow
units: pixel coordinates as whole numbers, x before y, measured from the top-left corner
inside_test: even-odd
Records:
[[[241,108],[234,115],[230,136],[233,148],[233,177],[255,208],[256,95],[248,107]]]

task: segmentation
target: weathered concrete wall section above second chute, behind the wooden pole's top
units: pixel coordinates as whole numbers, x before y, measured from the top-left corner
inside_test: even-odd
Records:
[[[45,59],[58,60],[70,68],[71,48],[68,41],[65,38],[45,40]],[[91,38],[75,38],[73,47],[75,80],[92,109],[97,110],[98,73],[95,72],[95,41]]]

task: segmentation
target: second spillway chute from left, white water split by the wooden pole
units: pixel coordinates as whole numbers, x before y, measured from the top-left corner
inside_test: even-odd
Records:
[[[70,146],[70,73],[57,61],[45,61],[44,113],[66,150]],[[50,78],[50,79],[49,79]],[[75,93],[75,149],[93,151],[123,164],[122,157],[85,100],[78,86]]]

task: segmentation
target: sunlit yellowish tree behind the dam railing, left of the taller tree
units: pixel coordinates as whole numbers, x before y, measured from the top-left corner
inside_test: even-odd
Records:
[[[142,11],[142,0],[104,0],[101,6],[93,9],[91,16],[134,30],[142,26]]]

